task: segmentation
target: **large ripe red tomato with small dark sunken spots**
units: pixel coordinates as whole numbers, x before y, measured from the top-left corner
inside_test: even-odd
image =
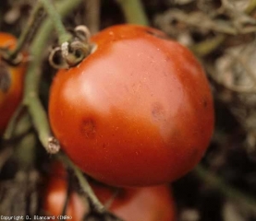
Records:
[[[78,66],[59,70],[49,118],[85,173],[114,186],[158,185],[200,161],[213,133],[213,98],[201,64],[163,32],[104,29]]]

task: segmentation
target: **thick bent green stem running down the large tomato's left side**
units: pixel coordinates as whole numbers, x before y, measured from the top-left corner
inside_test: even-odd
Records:
[[[79,6],[81,1],[82,0],[62,1],[56,5],[56,13],[59,13],[61,17],[65,17],[70,10]],[[28,106],[32,122],[44,147],[47,147],[48,138],[51,133],[47,114],[43,110],[43,105],[38,97],[38,89],[42,75],[41,64],[43,61],[43,52],[45,48],[47,48],[47,42],[54,28],[53,26],[54,24],[50,18],[43,22],[42,27],[38,30],[34,37],[34,41],[30,46],[30,56],[33,60],[28,67],[27,75],[25,77],[23,99],[23,104]]]

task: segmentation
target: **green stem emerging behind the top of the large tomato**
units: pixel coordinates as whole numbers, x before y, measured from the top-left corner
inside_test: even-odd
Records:
[[[148,17],[140,0],[116,0],[124,11],[128,23],[149,25]]]

